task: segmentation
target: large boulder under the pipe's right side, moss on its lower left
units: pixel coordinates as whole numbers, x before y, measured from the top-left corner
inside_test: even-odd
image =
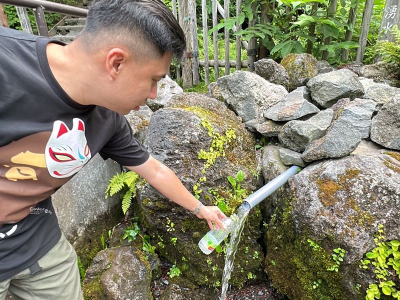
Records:
[[[271,195],[265,264],[280,292],[292,300],[365,298],[378,279],[359,264],[375,246],[378,225],[385,240],[400,239],[399,159],[363,142],[349,156],[305,167],[289,179],[291,192]]]

